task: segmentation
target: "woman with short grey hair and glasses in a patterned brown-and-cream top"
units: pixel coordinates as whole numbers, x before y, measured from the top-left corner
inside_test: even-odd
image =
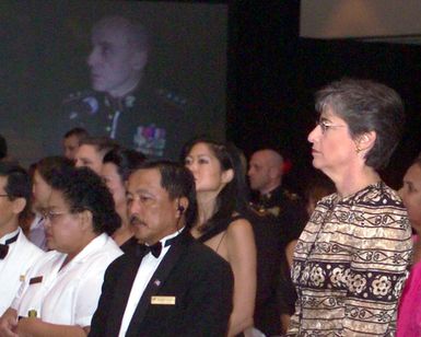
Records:
[[[313,165],[337,193],[317,204],[295,247],[289,335],[393,336],[411,230],[377,170],[400,138],[401,100],[383,84],[344,79],[316,93],[316,111]]]

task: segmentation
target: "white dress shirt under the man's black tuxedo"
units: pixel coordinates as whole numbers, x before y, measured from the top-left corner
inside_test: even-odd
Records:
[[[122,316],[122,321],[120,325],[120,332],[118,334],[119,337],[126,336],[131,318],[135,314],[136,309],[138,307],[139,301],[144,290],[148,287],[148,283],[150,282],[153,274],[156,271],[157,267],[160,266],[162,259],[164,258],[166,253],[169,251],[171,246],[169,245],[165,246],[166,241],[177,236],[183,230],[177,231],[160,240],[162,244],[162,251],[159,257],[154,257],[151,252],[149,252],[145,256],[143,256],[142,262],[140,263],[140,266],[138,269],[138,274],[136,275],[133,284],[131,286],[130,295],[127,301],[125,314]]]

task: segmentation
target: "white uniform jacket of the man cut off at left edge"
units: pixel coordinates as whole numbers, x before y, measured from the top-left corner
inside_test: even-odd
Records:
[[[12,304],[27,269],[44,255],[42,249],[26,239],[20,228],[1,237],[0,243],[4,244],[17,233],[17,240],[9,244],[8,255],[0,259],[0,316]]]

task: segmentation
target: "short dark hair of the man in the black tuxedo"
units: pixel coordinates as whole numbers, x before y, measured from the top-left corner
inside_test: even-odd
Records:
[[[157,170],[161,174],[161,187],[169,199],[187,198],[188,207],[184,210],[186,228],[194,226],[197,220],[196,184],[191,172],[184,165],[171,161],[144,162],[138,170]]]

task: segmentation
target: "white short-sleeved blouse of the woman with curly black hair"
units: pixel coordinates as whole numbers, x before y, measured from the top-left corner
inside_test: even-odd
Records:
[[[91,241],[61,270],[67,254],[45,254],[30,270],[12,303],[19,316],[35,310],[52,324],[90,326],[98,304],[104,272],[122,252],[107,234]]]

